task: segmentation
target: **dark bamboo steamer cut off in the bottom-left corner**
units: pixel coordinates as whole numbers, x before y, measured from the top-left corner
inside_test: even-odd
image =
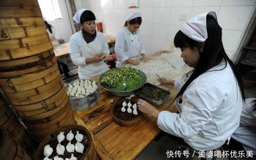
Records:
[[[31,160],[26,151],[0,126],[0,155],[5,160]]]

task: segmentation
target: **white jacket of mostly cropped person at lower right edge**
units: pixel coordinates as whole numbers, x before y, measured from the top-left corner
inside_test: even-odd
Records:
[[[256,155],[256,111],[252,110],[252,100],[247,98],[240,117],[240,126],[232,134],[232,138],[242,143],[246,151],[251,150]]]

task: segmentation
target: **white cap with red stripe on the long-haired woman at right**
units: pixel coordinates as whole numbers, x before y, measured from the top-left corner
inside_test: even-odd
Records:
[[[206,16],[208,14],[212,15],[218,22],[216,13],[214,11],[210,11],[189,19],[180,30],[192,40],[204,42],[208,38],[206,28]]]

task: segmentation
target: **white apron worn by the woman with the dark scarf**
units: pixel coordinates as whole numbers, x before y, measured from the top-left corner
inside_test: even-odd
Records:
[[[82,57],[92,58],[96,54],[102,53],[102,45],[98,40],[98,37],[96,37],[90,43],[86,43],[84,38],[82,38],[82,41]],[[104,62],[104,60],[101,60],[98,63],[92,62],[84,66],[78,66],[78,76],[80,79],[90,79],[106,72],[107,70],[109,70],[107,64]]]

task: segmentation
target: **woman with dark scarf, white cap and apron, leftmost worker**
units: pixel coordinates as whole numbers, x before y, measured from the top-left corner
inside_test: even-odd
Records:
[[[96,18],[92,11],[82,8],[73,17],[81,30],[70,37],[70,57],[78,66],[80,79],[89,79],[109,70],[103,54],[109,55],[108,44],[102,33],[96,31]]]

